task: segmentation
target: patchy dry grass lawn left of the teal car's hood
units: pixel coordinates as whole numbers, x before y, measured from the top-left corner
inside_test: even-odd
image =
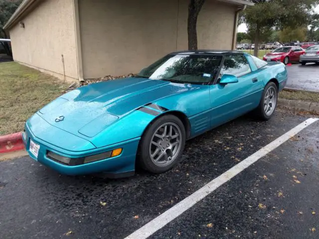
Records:
[[[15,62],[0,63],[0,135],[22,131],[26,119],[68,84]]]

